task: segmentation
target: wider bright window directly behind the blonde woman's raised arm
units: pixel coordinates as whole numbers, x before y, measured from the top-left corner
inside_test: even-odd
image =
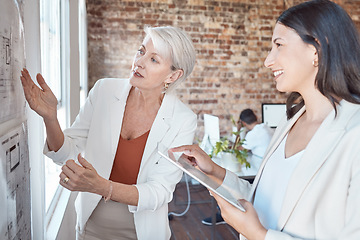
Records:
[[[61,22],[61,0],[40,1],[41,69],[46,83],[58,99],[58,119],[62,128],[67,127],[66,87],[62,71],[65,58],[62,46],[64,26]],[[63,31],[62,31],[63,30]],[[46,134],[46,133],[44,133]],[[56,193],[61,167],[45,157],[45,205],[47,212]]]

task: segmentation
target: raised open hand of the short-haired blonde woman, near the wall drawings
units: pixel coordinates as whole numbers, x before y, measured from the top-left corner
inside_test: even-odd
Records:
[[[41,88],[33,82],[26,68],[21,71],[20,79],[26,101],[29,103],[30,108],[43,117],[44,120],[56,120],[57,99],[49,86],[45,83],[41,74],[38,73],[36,75],[36,80]]]

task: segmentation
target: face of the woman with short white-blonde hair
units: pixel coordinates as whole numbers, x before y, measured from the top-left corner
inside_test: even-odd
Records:
[[[176,80],[169,58],[154,48],[151,38],[146,37],[137,51],[130,75],[132,86],[142,91],[161,93],[165,82]]]

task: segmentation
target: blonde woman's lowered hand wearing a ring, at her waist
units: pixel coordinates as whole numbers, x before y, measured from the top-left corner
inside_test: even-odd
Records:
[[[62,166],[60,173],[60,185],[70,191],[91,192],[106,196],[109,181],[99,176],[94,167],[80,154],[78,161],[68,160]]]

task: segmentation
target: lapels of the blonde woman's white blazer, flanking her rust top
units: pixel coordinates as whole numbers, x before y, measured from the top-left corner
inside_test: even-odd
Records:
[[[121,81],[119,81],[121,82]],[[129,81],[122,86],[119,86],[119,89],[122,91],[117,91],[114,95],[114,101],[110,106],[110,127],[111,127],[111,151],[115,157],[117,145],[119,142],[119,136],[121,132],[122,120],[124,117],[126,99],[129,95],[131,85]],[[153,154],[157,148],[157,143],[161,142],[165,134],[170,129],[171,120],[174,115],[176,97],[172,94],[165,94],[162,104],[159,108],[159,111],[154,119],[154,123],[150,129],[148,136],[148,141],[146,142],[140,171],[143,168],[144,160],[148,159],[151,154]]]

